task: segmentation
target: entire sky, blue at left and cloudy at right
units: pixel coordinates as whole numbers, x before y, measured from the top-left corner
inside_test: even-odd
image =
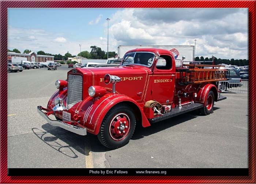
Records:
[[[248,59],[247,8],[8,8],[8,49],[77,55],[90,46],[195,45],[196,56]]]

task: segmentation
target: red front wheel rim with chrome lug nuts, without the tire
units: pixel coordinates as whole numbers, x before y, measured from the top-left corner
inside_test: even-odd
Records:
[[[120,113],[115,115],[109,125],[110,137],[115,141],[121,141],[129,133],[130,125],[130,119],[127,114]]]

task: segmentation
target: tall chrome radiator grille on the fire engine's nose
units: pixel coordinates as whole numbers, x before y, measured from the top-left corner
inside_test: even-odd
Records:
[[[70,109],[82,100],[83,78],[78,75],[68,75],[67,108]]]

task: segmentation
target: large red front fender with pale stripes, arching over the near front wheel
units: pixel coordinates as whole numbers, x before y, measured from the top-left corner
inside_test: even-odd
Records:
[[[87,108],[81,124],[87,127],[87,131],[89,133],[97,135],[101,127],[101,122],[110,108],[122,102],[132,103],[133,106],[138,107],[142,119],[142,126],[150,126],[150,123],[148,122],[144,112],[135,100],[126,95],[113,93],[107,93],[99,100],[94,101],[94,103]]]

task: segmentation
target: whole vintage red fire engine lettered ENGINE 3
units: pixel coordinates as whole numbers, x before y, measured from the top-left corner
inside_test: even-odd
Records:
[[[176,66],[168,50],[135,49],[120,66],[72,69],[67,80],[56,81],[47,107],[37,110],[52,126],[95,134],[110,149],[124,146],[138,123],[148,127],[196,109],[208,115],[215,101],[226,99],[218,81],[227,79],[227,70],[184,64],[184,58]]]

